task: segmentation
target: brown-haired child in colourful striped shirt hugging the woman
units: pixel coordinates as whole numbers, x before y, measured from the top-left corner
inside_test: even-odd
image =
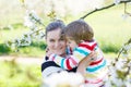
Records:
[[[88,65],[85,69],[85,83],[88,87],[100,87],[104,84],[104,77],[107,74],[106,60],[103,52],[93,39],[94,33],[92,27],[82,20],[70,23],[64,34],[68,40],[68,46],[73,50],[72,55],[67,59],[57,54],[50,54],[49,60],[55,61],[63,69],[71,70],[87,57],[92,51],[96,51],[96,58],[88,59]]]

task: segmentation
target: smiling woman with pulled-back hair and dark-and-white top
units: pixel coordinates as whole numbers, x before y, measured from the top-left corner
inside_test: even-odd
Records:
[[[50,53],[56,53],[61,57],[66,57],[68,53],[70,53],[69,49],[67,49],[67,42],[62,32],[64,26],[66,25],[62,21],[55,21],[46,27],[47,51],[49,50]],[[46,55],[48,55],[49,52],[47,52]],[[63,69],[57,65],[53,61],[48,61],[47,57],[45,59],[46,62],[41,64],[41,73],[44,77],[52,73],[63,71]],[[75,71],[76,67],[69,72]]]

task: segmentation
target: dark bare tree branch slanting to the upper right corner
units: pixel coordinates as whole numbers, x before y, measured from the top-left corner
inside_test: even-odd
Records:
[[[127,3],[127,2],[131,2],[131,0],[121,1],[119,4],[121,4],[121,3]],[[112,4],[109,4],[109,5],[104,7],[104,8],[100,8],[100,9],[95,9],[95,10],[91,11],[90,13],[85,14],[84,16],[82,16],[82,17],[80,17],[80,18],[84,20],[85,17],[87,17],[88,15],[91,15],[91,14],[93,14],[93,13],[95,13],[95,12],[98,12],[98,11],[102,11],[102,10],[106,10],[106,9],[109,9],[109,8],[115,7],[115,5],[116,5],[116,4],[112,3]]]

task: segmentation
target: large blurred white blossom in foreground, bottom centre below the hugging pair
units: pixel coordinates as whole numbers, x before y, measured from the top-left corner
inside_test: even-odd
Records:
[[[48,87],[80,87],[84,83],[84,77],[79,73],[60,72],[50,75],[44,82]]]

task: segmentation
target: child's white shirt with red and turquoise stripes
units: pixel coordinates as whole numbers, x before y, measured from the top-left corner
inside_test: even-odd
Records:
[[[84,41],[81,42],[68,58],[62,58],[57,54],[51,54],[49,59],[55,61],[58,65],[66,70],[72,70],[78,66],[79,62],[87,57],[92,51],[97,52],[96,59],[86,67],[86,84],[94,84],[96,87],[100,86],[107,74],[106,60],[104,59],[102,50],[98,48],[97,42]],[[97,86],[98,85],[98,86]]]

